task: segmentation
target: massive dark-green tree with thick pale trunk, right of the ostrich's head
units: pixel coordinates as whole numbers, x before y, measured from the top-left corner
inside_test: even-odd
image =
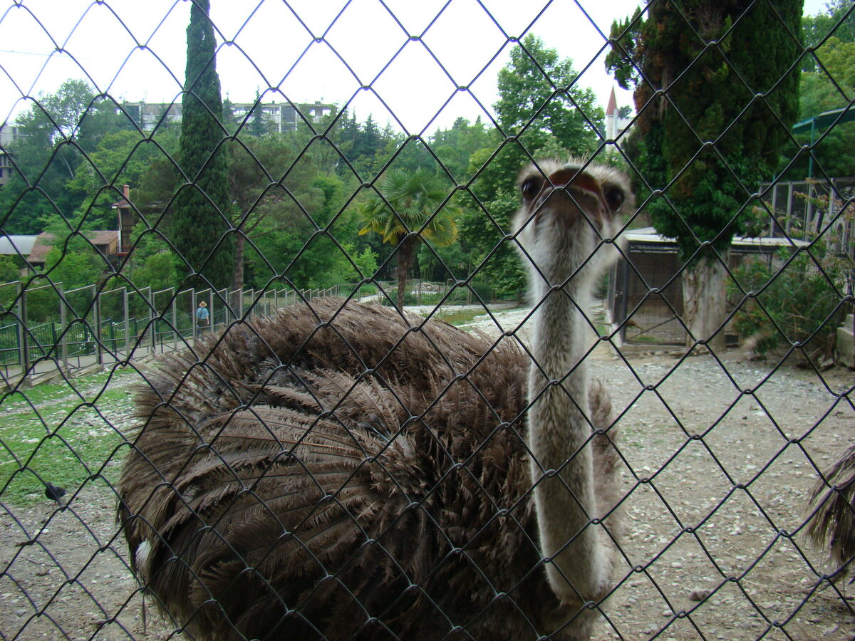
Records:
[[[797,116],[801,0],[653,3],[611,27],[606,58],[640,105],[632,160],[681,259],[689,344],[723,345],[728,252]],[[648,192],[640,189],[640,202]]]

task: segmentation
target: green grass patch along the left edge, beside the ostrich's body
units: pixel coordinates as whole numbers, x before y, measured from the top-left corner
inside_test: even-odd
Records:
[[[69,494],[87,479],[114,483],[136,382],[133,372],[97,373],[0,397],[0,501],[46,501],[45,481]]]

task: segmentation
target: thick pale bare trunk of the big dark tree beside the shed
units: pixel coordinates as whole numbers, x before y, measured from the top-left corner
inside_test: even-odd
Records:
[[[727,260],[728,254],[722,256],[722,261]],[[724,349],[723,325],[727,316],[725,301],[728,272],[722,261],[702,259],[682,274],[683,322],[688,329],[687,347],[703,340],[713,350]]]

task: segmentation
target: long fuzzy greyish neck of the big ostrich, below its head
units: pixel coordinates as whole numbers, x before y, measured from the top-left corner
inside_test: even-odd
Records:
[[[578,289],[578,288],[577,288]],[[605,577],[588,443],[584,291],[550,291],[535,312],[528,382],[529,446],[540,545],[552,590],[565,601],[597,599]],[[560,381],[560,383],[558,382]]]

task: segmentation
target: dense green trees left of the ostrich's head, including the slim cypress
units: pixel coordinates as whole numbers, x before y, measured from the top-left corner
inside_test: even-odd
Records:
[[[468,281],[486,297],[522,292],[505,237],[518,205],[516,173],[532,157],[598,147],[602,109],[576,85],[570,61],[540,38],[523,38],[500,74],[498,128],[487,118],[458,118],[410,136],[372,115],[361,121],[333,109],[276,132],[263,116],[244,122],[223,113],[208,6],[192,6],[180,124],[142,131],[80,81],[22,117],[29,135],[15,158],[23,173],[0,193],[4,231],[43,231],[45,215],[115,229],[112,204],[127,184],[138,224],[131,254],[111,278],[140,290],[319,288],[413,275]],[[259,102],[252,115],[262,113]],[[410,215],[411,203],[398,201],[392,185],[396,176],[419,177],[425,193],[439,195],[429,198],[433,209],[416,208],[408,232],[360,234],[366,212],[389,214],[378,203],[400,208],[389,221]],[[103,279],[109,269],[103,266]]]

